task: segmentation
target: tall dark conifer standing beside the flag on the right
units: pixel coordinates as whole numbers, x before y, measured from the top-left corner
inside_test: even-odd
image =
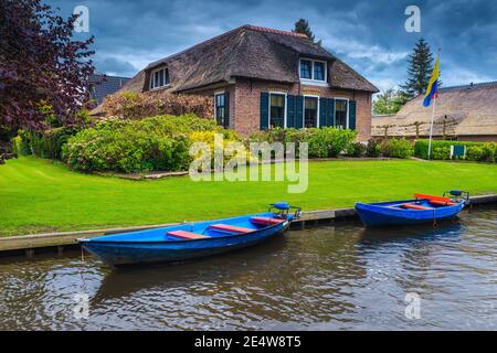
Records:
[[[409,97],[423,94],[433,71],[433,54],[424,39],[420,39],[408,58],[408,81],[401,88]]]

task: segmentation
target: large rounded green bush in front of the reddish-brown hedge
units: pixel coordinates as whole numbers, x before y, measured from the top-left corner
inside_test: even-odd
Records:
[[[194,115],[157,116],[142,120],[109,120],[70,138],[63,159],[85,171],[179,171],[187,170],[193,131],[218,131],[236,139],[215,121]]]

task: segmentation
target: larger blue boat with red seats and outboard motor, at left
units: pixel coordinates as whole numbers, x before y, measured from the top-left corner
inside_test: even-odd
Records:
[[[293,214],[289,210],[294,208]],[[114,266],[182,261],[252,246],[283,234],[299,207],[274,203],[269,211],[241,217],[77,239]]]

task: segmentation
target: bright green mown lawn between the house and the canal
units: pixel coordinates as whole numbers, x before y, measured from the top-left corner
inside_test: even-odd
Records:
[[[304,210],[356,201],[497,192],[497,165],[478,163],[332,161],[309,163],[309,188],[288,194],[283,182],[192,182],[188,176],[131,181],[82,174],[35,158],[0,165],[0,235],[147,225],[265,211],[286,200]]]

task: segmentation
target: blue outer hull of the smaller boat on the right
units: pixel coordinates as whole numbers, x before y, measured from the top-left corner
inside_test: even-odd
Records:
[[[433,210],[401,210],[390,205],[416,202],[416,200],[393,201],[376,204],[357,203],[356,211],[366,226],[390,226],[405,224],[423,224],[455,217],[464,210],[462,201],[452,206],[436,207]]]

